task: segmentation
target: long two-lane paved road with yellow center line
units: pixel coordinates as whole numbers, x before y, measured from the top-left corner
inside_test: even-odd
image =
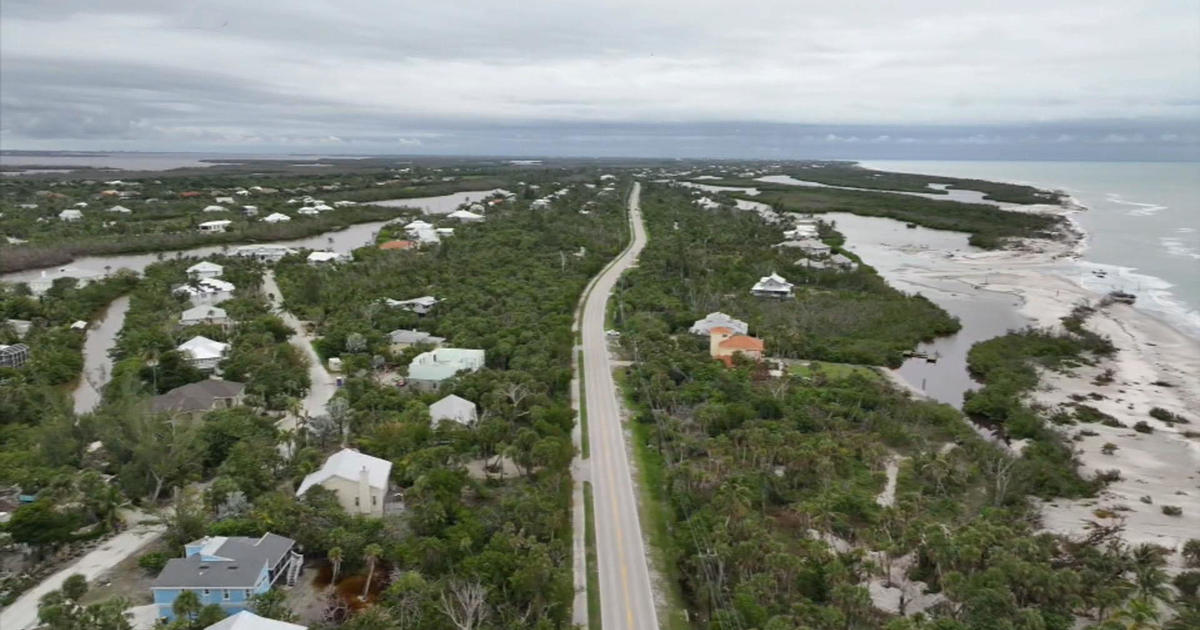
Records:
[[[605,310],[613,286],[646,246],[638,206],[641,184],[629,197],[630,246],[596,278],[583,306],[584,391],[595,502],[596,556],[600,572],[600,614],[606,630],[656,630],[649,558],[637,518],[637,499],[625,451],[617,389],[608,362]]]

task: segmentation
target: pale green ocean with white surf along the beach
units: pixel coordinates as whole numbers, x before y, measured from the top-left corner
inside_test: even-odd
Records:
[[[862,164],[1064,191],[1087,208],[1073,216],[1087,241],[1082,258],[1058,271],[1096,292],[1135,293],[1138,308],[1200,338],[1200,163],[864,160]]]

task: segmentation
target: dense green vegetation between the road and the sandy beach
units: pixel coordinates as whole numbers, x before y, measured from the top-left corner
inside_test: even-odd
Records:
[[[721,214],[689,229],[688,198],[661,188],[643,209],[652,239],[617,311],[638,359],[623,378],[635,434],[664,466],[667,574],[697,628],[1066,630],[1076,617],[1116,624],[1166,602],[1181,614],[1175,628],[1195,622],[1194,595],[1166,588],[1157,547],[1127,547],[1115,530],[1037,533],[1025,496],[1043,492],[1039,462],[977,438],[958,412],[854,371],[767,378],[709,360],[683,318],[654,305],[712,290],[710,277],[679,271],[695,256],[680,252],[733,233],[749,257],[769,240]],[[722,289],[725,312],[749,314],[773,354],[758,300]],[[779,307],[820,304],[802,293]],[[899,467],[890,504],[878,497],[888,462]],[[881,612],[872,582],[893,587],[900,612],[924,614]]]

